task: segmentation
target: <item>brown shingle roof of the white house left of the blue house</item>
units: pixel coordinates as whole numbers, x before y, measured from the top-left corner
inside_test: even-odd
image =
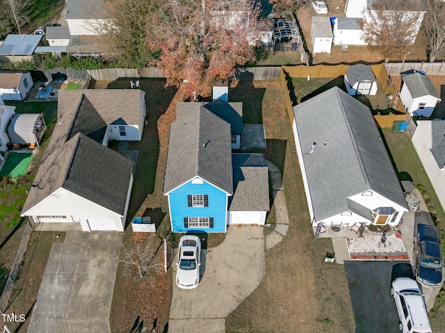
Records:
[[[133,162],[85,135],[91,134],[88,132],[95,128],[97,113],[93,112],[90,105],[83,108],[82,103],[94,99],[87,97],[99,92],[99,104],[90,104],[95,106],[95,111],[97,105],[103,105],[104,112],[108,106],[110,112],[101,117],[115,120],[118,108],[125,113],[135,105],[131,97],[137,97],[139,104],[140,92],[106,90],[104,95],[100,94],[101,90],[89,90],[85,95],[83,92],[86,90],[59,91],[57,124],[22,213],[26,213],[58,188],[66,188],[123,215]],[[88,110],[92,115],[86,114]],[[138,108],[137,111],[132,110],[139,113]],[[125,200],[122,199],[123,196]]]

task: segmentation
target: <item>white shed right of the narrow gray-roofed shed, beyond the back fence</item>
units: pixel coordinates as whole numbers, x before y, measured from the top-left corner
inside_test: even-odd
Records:
[[[337,17],[334,19],[332,33],[335,45],[365,45],[362,36],[363,19],[355,17]]]

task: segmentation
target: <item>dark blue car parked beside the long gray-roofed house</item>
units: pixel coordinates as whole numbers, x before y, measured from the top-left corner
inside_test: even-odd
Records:
[[[442,245],[440,229],[419,223],[414,236],[414,274],[426,287],[442,284]]]

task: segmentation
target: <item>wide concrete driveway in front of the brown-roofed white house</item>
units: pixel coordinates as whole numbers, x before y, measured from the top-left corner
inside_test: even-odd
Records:
[[[49,255],[29,333],[111,332],[108,317],[122,234],[67,232]]]

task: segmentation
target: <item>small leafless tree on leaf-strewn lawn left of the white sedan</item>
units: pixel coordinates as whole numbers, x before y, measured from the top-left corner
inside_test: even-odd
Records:
[[[151,279],[163,270],[163,263],[156,255],[152,243],[133,243],[129,248],[122,246],[122,256],[117,260],[124,264],[124,273],[140,279]]]

